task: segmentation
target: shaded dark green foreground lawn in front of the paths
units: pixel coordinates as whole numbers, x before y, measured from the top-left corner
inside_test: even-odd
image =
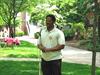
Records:
[[[39,75],[38,69],[36,61],[0,61],[0,75]],[[89,65],[63,62],[62,75],[91,75],[91,69]],[[100,68],[96,68],[96,75],[100,75]]]

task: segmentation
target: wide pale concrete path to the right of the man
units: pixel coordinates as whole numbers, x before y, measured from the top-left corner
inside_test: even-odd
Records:
[[[62,51],[63,61],[81,64],[92,64],[92,52],[66,46]],[[100,52],[96,53],[96,66],[100,67]]]

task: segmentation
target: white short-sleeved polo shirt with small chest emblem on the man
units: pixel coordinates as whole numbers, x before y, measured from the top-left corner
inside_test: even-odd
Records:
[[[48,31],[46,27],[44,27],[41,31],[41,37],[39,38],[38,44],[42,44],[46,48],[52,48],[59,45],[65,45],[65,37],[61,30],[56,27]],[[53,51],[53,52],[42,52],[41,57],[46,60],[56,60],[61,59],[62,54],[61,50]]]

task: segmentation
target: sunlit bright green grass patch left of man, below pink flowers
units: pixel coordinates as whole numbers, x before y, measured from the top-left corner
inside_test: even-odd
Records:
[[[0,48],[0,57],[33,58],[39,56],[39,49],[26,41],[21,41],[19,46]]]

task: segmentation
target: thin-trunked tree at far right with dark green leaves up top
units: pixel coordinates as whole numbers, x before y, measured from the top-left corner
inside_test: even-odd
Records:
[[[83,12],[81,15],[83,15],[84,17],[87,17],[87,13],[93,13],[93,50],[92,50],[92,67],[91,67],[91,75],[96,75],[95,73],[95,70],[96,70],[96,39],[97,39],[97,36],[96,36],[96,28],[98,26],[98,1],[97,0],[80,0],[79,1],[80,3],[80,7],[78,7],[78,13],[80,12]],[[82,4],[83,2],[83,4]],[[85,9],[85,11],[82,9]],[[92,15],[91,13],[91,15]],[[88,19],[90,20],[90,19]],[[99,27],[99,26],[98,26]],[[98,29],[99,30],[99,29]],[[99,33],[99,32],[98,32]]]

